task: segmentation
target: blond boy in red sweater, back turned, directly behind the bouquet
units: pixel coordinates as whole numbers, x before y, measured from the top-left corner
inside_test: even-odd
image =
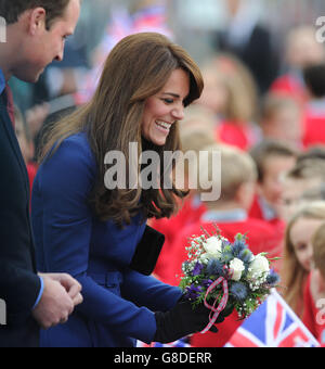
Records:
[[[207,150],[221,152],[221,195],[217,201],[205,202],[207,211],[202,215],[199,221],[185,228],[176,239],[174,254],[169,265],[169,282],[171,284],[178,284],[180,281],[181,266],[187,256],[185,250],[187,238],[200,234],[202,227],[211,232],[217,225],[221,234],[232,242],[238,232],[247,233],[252,253],[269,252],[270,256],[281,255],[281,240],[273,228],[268,222],[261,219],[250,219],[247,215],[253,199],[257,179],[257,170],[251,157],[232,147],[213,145]],[[206,167],[208,171],[212,170],[211,161],[206,163]],[[202,186],[202,188],[207,191],[206,186]],[[234,311],[223,323],[219,325],[218,334],[209,332],[195,334],[191,339],[191,344],[196,347],[223,346],[240,325],[242,321],[238,321],[238,316]]]

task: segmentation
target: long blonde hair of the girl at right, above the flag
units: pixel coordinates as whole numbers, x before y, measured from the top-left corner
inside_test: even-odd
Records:
[[[282,282],[285,287],[284,298],[297,313],[302,315],[300,302],[303,298],[303,284],[308,277],[308,271],[300,265],[290,239],[290,232],[294,225],[301,218],[306,219],[324,219],[325,221],[325,202],[316,201],[301,206],[290,218],[285,234],[285,245],[282,265]]]

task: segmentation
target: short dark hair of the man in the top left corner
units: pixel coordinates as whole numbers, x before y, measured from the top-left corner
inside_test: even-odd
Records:
[[[47,12],[47,29],[50,29],[53,21],[63,16],[70,0],[0,0],[0,16],[6,24],[18,21],[21,14],[29,9],[43,8]]]

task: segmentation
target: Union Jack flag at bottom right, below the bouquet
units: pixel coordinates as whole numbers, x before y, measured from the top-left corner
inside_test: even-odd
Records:
[[[225,347],[320,347],[320,343],[273,291],[236,330]]]

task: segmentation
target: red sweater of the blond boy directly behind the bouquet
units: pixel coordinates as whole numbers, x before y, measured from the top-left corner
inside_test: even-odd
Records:
[[[205,216],[203,216],[202,219]],[[247,233],[248,245],[253,254],[268,252],[270,257],[275,257],[282,253],[282,249],[280,247],[282,240],[280,236],[262,220],[250,218],[227,222],[200,220],[195,225],[186,227],[176,239],[173,244],[173,258],[168,269],[168,283],[178,285],[180,282],[181,266],[187,258],[185,246],[188,245],[188,237],[202,234],[202,227],[211,234],[214,232],[214,225],[219,227],[221,236],[231,242],[234,241],[237,233]],[[224,322],[217,325],[219,329],[217,334],[211,332],[194,334],[191,338],[191,345],[194,347],[223,347],[242,323],[243,321],[238,320],[237,313],[234,311],[225,318]]]

